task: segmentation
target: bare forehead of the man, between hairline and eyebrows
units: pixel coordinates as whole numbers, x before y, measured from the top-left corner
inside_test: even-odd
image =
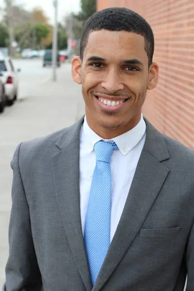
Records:
[[[84,58],[92,55],[110,59],[138,59],[147,62],[145,39],[133,32],[101,30],[91,32],[84,50]]]

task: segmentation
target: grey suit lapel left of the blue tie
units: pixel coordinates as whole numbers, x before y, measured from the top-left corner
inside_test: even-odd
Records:
[[[87,291],[92,290],[85,254],[80,214],[80,129],[83,119],[65,130],[56,145],[61,149],[51,157],[55,192],[65,233]],[[64,137],[65,135],[65,137]]]

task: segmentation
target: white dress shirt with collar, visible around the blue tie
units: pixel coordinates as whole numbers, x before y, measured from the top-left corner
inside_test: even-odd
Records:
[[[80,135],[80,208],[83,234],[92,176],[96,166],[94,145],[100,140],[103,139],[90,129],[85,117]],[[111,158],[111,241],[121,218],[145,140],[146,123],[143,115],[133,129],[111,140],[119,148],[113,151]]]

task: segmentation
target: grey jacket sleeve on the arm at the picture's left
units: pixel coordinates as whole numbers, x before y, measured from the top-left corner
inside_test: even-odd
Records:
[[[9,225],[9,258],[3,291],[41,291],[41,275],[34,250],[30,212],[19,170],[20,147],[11,162],[14,172]]]

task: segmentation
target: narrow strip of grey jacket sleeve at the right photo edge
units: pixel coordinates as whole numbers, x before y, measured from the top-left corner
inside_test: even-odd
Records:
[[[186,291],[194,291],[194,224],[190,233],[186,252],[187,263],[187,288]]]

